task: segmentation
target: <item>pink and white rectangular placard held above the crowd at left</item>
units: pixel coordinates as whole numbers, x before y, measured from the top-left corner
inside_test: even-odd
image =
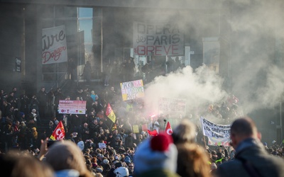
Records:
[[[60,114],[85,114],[87,101],[60,100],[58,113]]]

